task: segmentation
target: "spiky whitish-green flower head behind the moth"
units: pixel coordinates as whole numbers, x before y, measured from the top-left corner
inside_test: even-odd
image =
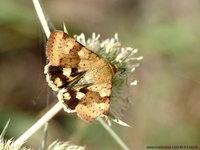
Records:
[[[119,105],[123,109],[125,103],[127,103],[126,98],[122,97],[121,90],[124,87],[124,83],[127,79],[127,75],[135,70],[139,66],[137,61],[143,59],[142,56],[136,57],[135,54],[138,52],[137,49],[132,47],[123,47],[118,34],[115,33],[114,37],[106,40],[100,40],[100,35],[93,33],[91,38],[86,39],[85,35],[81,33],[80,35],[75,35],[75,39],[89,48],[90,50],[97,53],[104,59],[109,60],[117,68],[117,72],[113,79],[112,87],[112,101],[118,103],[116,109],[119,109]],[[134,80],[128,83],[130,86],[136,85],[137,80]],[[123,99],[123,100],[122,100]],[[117,108],[118,107],[118,108]],[[114,108],[115,109],[115,108]],[[112,105],[111,105],[111,112]],[[121,116],[120,114],[115,113],[114,115]]]

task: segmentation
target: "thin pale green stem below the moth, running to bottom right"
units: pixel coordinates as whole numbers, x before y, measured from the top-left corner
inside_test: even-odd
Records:
[[[97,120],[101,123],[101,125],[108,131],[108,133],[113,137],[113,139],[121,146],[123,150],[130,150],[127,145],[122,141],[122,139],[116,134],[115,131],[112,130],[111,127],[109,127],[105,121],[101,118],[98,117]]]

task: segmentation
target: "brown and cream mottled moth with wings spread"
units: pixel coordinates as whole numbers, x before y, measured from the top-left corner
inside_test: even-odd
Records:
[[[46,80],[64,110],[87,122],[107,118],[115,66],[58,30],[47,41],[46,55]]]

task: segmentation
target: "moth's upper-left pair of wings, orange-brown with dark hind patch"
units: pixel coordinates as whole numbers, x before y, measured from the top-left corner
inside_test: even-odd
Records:
[[[90,68],[99,57],[62,31],[51,33],[46,44],[49,64],[45,74],[49,86],[58,91],[66,87],[82,71]],[[83,61],[84,60],[84,61]]]

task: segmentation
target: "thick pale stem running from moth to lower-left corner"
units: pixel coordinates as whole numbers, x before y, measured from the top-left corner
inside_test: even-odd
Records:
[[[44,116],[42,116],[31,128],[29,128],[24,134],[22,134],[13,143],[13,145],[22,145],[36,131],[38,131],[46,122],[48,122],[51,118],[53,118],[61,109],[63,109],[62,104],[58,102]]]

